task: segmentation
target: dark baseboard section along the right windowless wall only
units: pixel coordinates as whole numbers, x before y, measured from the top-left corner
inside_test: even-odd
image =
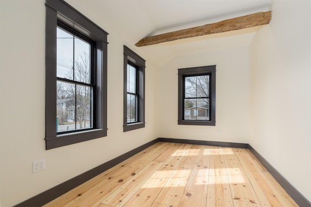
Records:
[[[296,190],[294,186],[292,186],[292,184],[279,172],[277,172],[277,170],[263,156],[261,156],[251,145],[248,145],[248,149],[256,156],[263,167],[265,167],[265,169],[276,179],[280,186],[282,186],[282,188],[293,198],[298,206],[311,207],[311,202]]]

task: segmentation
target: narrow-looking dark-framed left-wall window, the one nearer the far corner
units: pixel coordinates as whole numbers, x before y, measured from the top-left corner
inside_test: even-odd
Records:
[[[124,46],[123,131],[145,127],[145,60]]]

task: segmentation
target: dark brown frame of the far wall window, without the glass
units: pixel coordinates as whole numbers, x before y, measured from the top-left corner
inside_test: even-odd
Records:
[[[210,121],[184,120],[184,79],[186,76],[210,75]],[[178,124],[215,126],[216,65],[178,69]]]

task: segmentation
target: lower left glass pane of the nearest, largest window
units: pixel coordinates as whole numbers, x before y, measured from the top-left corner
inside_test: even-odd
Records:
[[[57,81],[56,95],[56,123],[58,124],[56,131],[75,130],[75,86]]]

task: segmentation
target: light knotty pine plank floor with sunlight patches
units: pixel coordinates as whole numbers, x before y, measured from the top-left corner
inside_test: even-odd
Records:
[[[297,207],[248,149],[158,142],[44,207]]]

